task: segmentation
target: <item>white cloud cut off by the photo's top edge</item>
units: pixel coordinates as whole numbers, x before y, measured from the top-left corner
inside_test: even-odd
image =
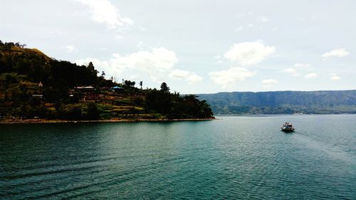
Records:
[[[122,17],[119,13],[119,9],[112,5],[108,0],[75,1],[79,1],[81,4],[89,7],[94,21],[98,23],[106,23],[110,28],[133,23],[131,19]]]

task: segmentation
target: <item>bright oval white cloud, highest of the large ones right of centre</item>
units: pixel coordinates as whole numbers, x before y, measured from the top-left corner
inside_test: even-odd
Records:
[[[224,56],[241,65],[253,65],[271,56],[275,50],[274,46],[264,46],[261,41],[243,42],[235,43]]]

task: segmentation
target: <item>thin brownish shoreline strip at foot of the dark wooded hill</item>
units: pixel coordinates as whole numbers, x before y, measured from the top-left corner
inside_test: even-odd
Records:
[[[45,119],[26,119],[26,120],[0,120],[0,125],[8,124],[48,124],[48,123],[86,123],[86,122],[179,122],[179,121],[207,121],[216,118],[206,119],[112,119],[112,120],[45,120]]]

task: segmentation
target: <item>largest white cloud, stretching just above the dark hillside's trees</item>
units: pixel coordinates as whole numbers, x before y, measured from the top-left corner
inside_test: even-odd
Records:
[[[126,56],[114,53],[109,60],[102,61],[96,58],[85,58],[75,63],[86,65],[90,61],[93,62],[95,68],[98,68],[99,71],[104,70],[108,77],[118,77],[124,70],[130,69],[145,73],[152,80],[159,82],[178,62],[178,58],[173,51],[161,47],[152,48],[152,51],[137,51]]]

